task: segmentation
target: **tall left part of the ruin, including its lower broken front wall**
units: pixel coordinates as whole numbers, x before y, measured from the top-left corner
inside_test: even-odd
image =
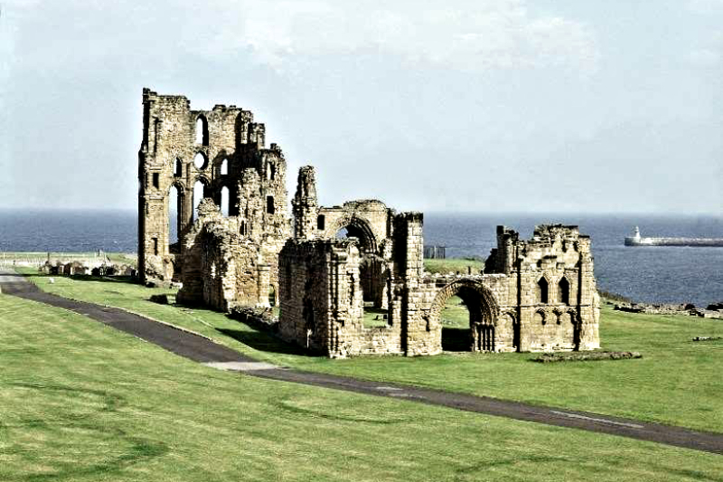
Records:
[[[142,279],[178,279],[179,299],[227,309],[268,305],[277,292],[278,251],[290,235],[286,160],[265,147],[265,128],[248,110],[192,110],[183,96],[143,91],[138,153],[138,264]],[[193,219],[193,189],[209,199]],[[168,197],[178,192],[178,243],[169,243]],[[211,209],[228,189],[229,217]],[[219,281],[220,273],[235,279]],[[230,274],[229,274],[230,276]],[[272,295],[273,296],[273,295]]]

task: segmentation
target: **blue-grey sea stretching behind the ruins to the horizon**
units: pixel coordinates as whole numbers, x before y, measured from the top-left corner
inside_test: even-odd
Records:
[[[643,236],[723,238],[723,217],[661,214],[425,213],[425,244],[447,258],[486,258],[496,226],[531,237],[536,224],[575,224],[592,239],[597,285],[647,303],[723,301],[723,248],[627,247],[635,226]],[[0,251],[136,252],[136,213],[128,211],[3,211]]]

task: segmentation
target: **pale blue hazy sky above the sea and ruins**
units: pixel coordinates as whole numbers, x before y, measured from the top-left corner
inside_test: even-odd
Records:
[[[723,0],[0,5],[3,207],[134,209],[149,87],[252,110],[324,204],[723,212]]]

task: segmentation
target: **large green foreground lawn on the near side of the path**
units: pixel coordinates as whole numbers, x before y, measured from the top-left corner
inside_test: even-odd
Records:
[[[723,479],[718,455],[224,373],[7,295],[0,334],[4,482]]]

